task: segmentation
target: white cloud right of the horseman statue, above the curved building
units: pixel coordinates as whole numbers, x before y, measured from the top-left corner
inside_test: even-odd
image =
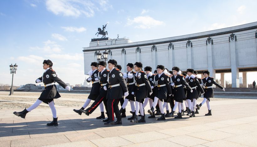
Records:
[[[133,20],[128,18],[127,25],[133,25],[133,24],[136,24],[135,28],[143,28],[143,29],[165,25],[164,22],[155,20],[150,16],[138,16],[138,17],[135,17]]]

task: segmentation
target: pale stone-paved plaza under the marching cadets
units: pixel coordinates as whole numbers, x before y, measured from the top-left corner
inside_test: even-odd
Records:
[[[146,123],[130,123],[127,120],[130,105],[126,107],[127,118],[122,125],[106,126],[97,108],[93,114],[81,116],[73,112],[80,109],[88,94],[61,93],[55,100],[58,126],[46,126],[52,121],[48,105],[40,104],[29,112],[26,119],[13,114],[29,107],[39,97],[37,92],[0,92],[0,146],[257,146],[257,99],[212,98],[212,116],[206,104],[200,114],[183,119],[166,118],[165,121],[148,119]],[[198,104],[202,98],[198,99]],[[92,104],[92,103],[91,103]],[[149,106],[146,107],[145,112]],[[106,116],[107,117],[107,116]],[[160,116],[157,116],[157,118]]]

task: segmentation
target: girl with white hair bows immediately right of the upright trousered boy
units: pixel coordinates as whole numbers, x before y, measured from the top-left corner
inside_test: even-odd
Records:
[[[134,119],[135,116],[135,90],[136,90],[136,86],[134,84],[134,74],[136,74],[133,71],[134,68],[134,64],[132,63],[128,63],[127,64],[127,73],[123,74],[123,78],[125,79],[126,83],[127,83],[127,87],[128,87],[128,96],[125,97],[124,103],[120,109],[120,113],[123,111],[123,109],[126,108],[128,101],[130,103],[130,107],[131,107],[131,112],[132,112],[132,117],[128,118],[128,120],[132,120]]]

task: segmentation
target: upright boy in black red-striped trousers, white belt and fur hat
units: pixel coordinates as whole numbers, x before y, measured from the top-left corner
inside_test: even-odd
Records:
[[[104,86],[104,89],[108,88],[107,91],[107,108],[109,113],[109,121],[104,123],[105,125],[115,125],[122,124],[121,115],[118,107],[118,99],[123,96],[128,96],[128,88],[126,81],[124,80],[122,73],[115,69],[117,66],[117,61],[110,59],[108,61],[108,68],[110,72],[108,73],[108,84]],[[114,114],[117,118],[117,121],[114,122]]]

